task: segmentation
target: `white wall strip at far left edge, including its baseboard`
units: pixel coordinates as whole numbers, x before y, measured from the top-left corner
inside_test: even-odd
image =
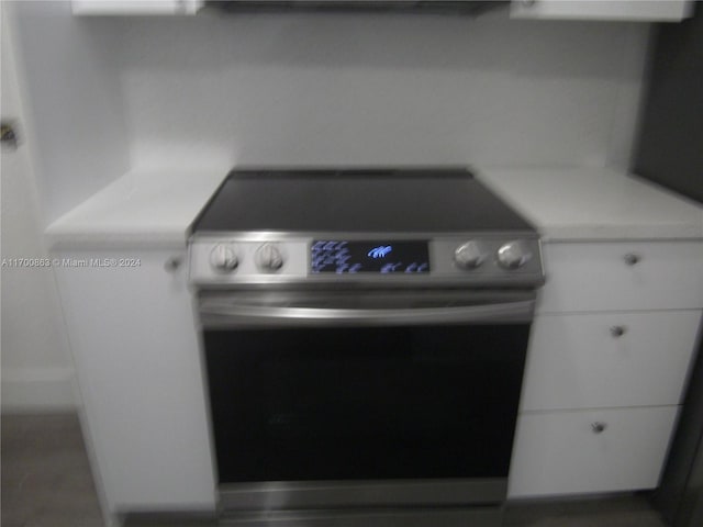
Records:
[[[18,121],[21,144],[1,157],[2,258],[42,259],[42,214],[7,30],[2,16],[2,116]],[[72,361],[52,270],[3,265],[1,299],[2,411],[74,407]]]

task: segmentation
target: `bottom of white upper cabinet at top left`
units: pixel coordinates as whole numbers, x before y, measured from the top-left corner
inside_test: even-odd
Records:
[[[71,0],[78,15],[196,14],[203,0]]]

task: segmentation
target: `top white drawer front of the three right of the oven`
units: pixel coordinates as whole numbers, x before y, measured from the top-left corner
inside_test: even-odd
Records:
[[[702,243],[545,244],[544,257],[542,313],[703,307]]]

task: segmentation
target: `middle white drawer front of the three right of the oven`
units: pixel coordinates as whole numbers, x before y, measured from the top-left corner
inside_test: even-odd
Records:
[[[679,404],[700,321],[700,311],[539,315],[521,407]]]

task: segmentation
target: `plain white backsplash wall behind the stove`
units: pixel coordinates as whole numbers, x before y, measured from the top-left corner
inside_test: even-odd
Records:
[[[649,25],[417,14],[120,21],[132,166],[626,166]]]

